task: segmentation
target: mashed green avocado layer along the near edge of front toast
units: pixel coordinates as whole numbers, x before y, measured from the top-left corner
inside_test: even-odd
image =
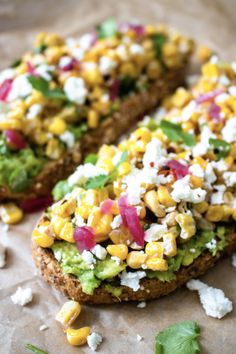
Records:
[[[175,279],[175,272],[181,266],[190,265],[197,257],[199,257],[206,249],[213,256],[225,248],[226,228],[224,226],[217,227],[214,231],[198,231],[189,241],[179,244],[177,255],[169,258],[168,271],[155,272],[146,271],[148,278],[158,278],[161,281],[169,282]],[[105,289],[114,296],[119,297],[121,288],[113,286],[109,282],[115,280],[126,267],[126,263],[118,264],[115,260],[107,256],[104,260],[96,260],[91,267],[83,260],[75,244],[66,241],[57,241],[52,246],[55,258],[60,263],[64,273],[75,275],[82,286],[84,293],[92,295],[94,289],[98,288],[102,281],[106,281]]]

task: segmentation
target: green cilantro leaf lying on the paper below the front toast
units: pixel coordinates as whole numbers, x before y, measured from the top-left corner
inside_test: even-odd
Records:
[[[195,354],[200,352],[200,327],[193,321],[176,323],[156,336],[156,354]]]

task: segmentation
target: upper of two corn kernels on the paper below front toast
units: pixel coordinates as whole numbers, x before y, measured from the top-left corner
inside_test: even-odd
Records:
[[[63,327],[69,327],[79,316],[81,306],[77,301],[67,301],[64,303],[60,311],[56,315],[56,321],[60,322]]]

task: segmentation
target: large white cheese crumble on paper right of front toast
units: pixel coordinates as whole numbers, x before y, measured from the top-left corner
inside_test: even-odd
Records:
[[[221,289],[213,288],[194,279],[187,283],[187,288],[198,291],[200,302],[208,316],[220,319],[233,309],[232,302]]]

